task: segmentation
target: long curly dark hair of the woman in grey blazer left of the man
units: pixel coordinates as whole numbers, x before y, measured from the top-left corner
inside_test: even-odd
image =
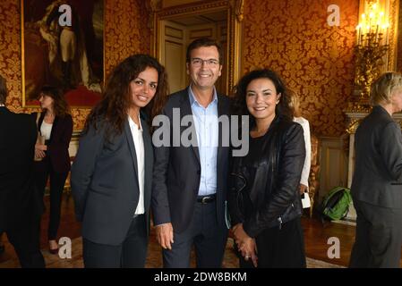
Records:
[[[99,122],[107,122],[106,138],[121,134],[124,130],[124,122],[127,120],[127,112],[133,103],[130,82],[138,77],[148,67],[158,71],[158,87],[155,97],[144,108],[148,122],[152,122],[154,116],[161,113],[167,101],[167,73],[165,67],[150,55],[131,55],[123,62],[115,66],[107,80],[107,86],[102,94],[102,99],[95,105],[87,121],[83,134],[90,127],[98,129]]]

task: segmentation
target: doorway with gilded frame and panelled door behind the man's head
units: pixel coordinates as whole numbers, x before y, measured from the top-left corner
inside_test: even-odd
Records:
[[[187,46],[196,38],[213,38],[223,50],[218,93],[230,95],[242,67],[243,1],[206,1],[152,10],[152,54],[167,69],[170,92],[188,85]]]

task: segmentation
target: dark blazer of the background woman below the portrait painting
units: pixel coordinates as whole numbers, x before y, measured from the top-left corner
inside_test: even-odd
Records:
[[[32,114],[37,118],[37,113]],[[45,118],[45,112],[40,114],[38,120],[38,132]],[[46,155],[56,172],[69,172],[71,168],[70,155],[68,147],[73,135],[73,117],[70,114],[65,114],[64,118],[56,116],[53,122],[50,139],[47,142]]]

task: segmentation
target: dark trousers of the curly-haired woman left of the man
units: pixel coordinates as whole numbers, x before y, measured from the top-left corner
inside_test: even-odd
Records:
[[[98,244],[83,238],[82,248],[86,268],[143,268],[148,248],[145,215],[133,218],[122,244]]]

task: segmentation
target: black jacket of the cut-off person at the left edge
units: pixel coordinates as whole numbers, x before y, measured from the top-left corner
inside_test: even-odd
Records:
[[[0,107],[0,232],[40,214],[34,191],[33,157],[37,139],[30,114],[14,114]]]

